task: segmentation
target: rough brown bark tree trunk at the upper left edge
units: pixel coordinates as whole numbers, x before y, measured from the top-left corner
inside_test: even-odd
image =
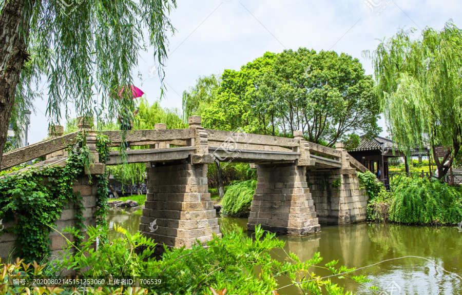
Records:
[[[24,61],[28,60],[30,16],[34,0],[10,0],[0,14],[0,163],[8,139],[8,125],[14,105],[16,85]],[[21,31],[24,32],[24,35]],[[24,36],[24,37],[23,37]]]

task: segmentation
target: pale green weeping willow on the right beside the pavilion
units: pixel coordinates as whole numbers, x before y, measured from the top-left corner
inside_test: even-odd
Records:
[[[430,146],[441,179],[462,143],[462,31],[449,21],[440,31],[427,27],[417,38],[414,32],[399,30],[363,54],[372,60],[394,142],[408,155]],[[442,158],[437,146],[448,147]]]

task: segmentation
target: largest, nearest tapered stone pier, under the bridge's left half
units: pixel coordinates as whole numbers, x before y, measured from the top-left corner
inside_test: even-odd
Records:
[[[158,165],[158,164],[156,164]],[[207,165],[179,164],[148,168],[149,193],[140,231],[168,247],[191,247],[196,239],[220,236],[218,219],[207,185]]]

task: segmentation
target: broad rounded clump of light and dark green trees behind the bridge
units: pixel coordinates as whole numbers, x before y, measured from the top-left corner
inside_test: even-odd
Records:
[[[309,141],[333,146],[352,134],[380,133],[379,109],[372,76],[357,58],[300,48],[225,70],[205,117],[225,130],[283,136],[301,130]]]

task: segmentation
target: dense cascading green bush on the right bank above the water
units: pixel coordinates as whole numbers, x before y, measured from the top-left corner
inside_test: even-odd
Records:
[[[427,178],[399,175],[391,183],[389,220],[456,224],[462,220],[462,189]]]

